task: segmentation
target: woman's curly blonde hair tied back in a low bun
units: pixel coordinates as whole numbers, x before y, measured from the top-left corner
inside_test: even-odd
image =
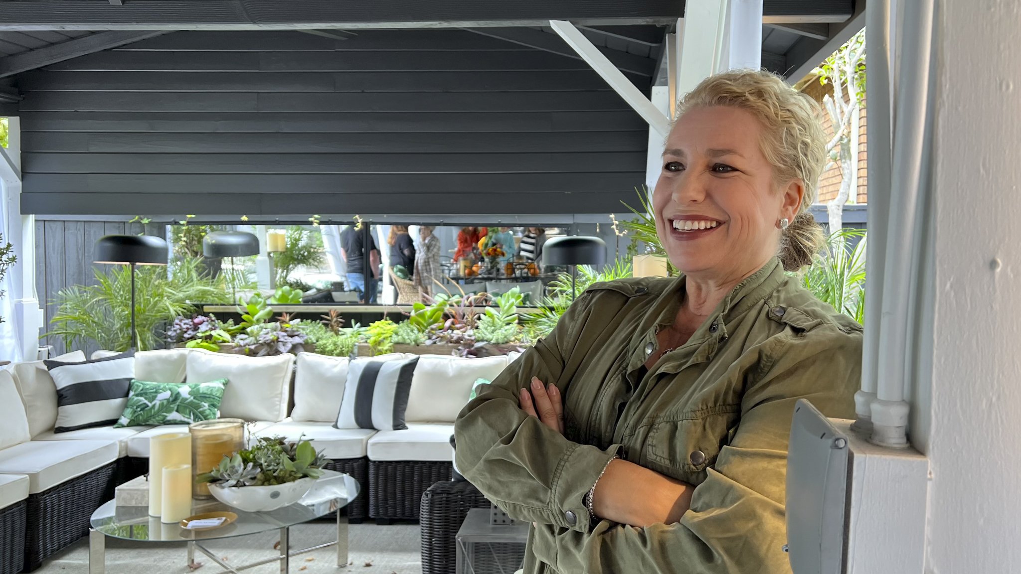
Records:
[[[797,213],[780,234],[778,255],[787,271],[811,265],[825,242],[822,228],[809,212],[826,165],[826,135],[819,123],[819,105],[769,71],[735,69],[711,76],[685,94],[678,103],[677,117],[696,107],[713,106],[751,113],[763,128],[760,146],[773,166],[777,184],[795,179],[805,183]]]

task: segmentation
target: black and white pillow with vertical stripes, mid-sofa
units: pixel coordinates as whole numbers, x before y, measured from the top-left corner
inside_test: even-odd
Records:
[[[344,398],[334,427],[404,430],[404,411],[419,357],[398,361],[355,358],[347,367]]]

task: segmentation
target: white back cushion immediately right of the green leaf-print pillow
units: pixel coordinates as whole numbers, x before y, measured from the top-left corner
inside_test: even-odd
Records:
[[[287,418],[293,354],[245,356],[193,349],[187,363],[189,381],[229,381],[220,403],[222,418],[274,422]]]

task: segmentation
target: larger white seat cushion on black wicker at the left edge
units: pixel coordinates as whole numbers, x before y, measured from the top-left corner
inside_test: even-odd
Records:
[[[33,440],[0,450],[0,474],[27,475],[37,494],[116,460],[110,440]]]

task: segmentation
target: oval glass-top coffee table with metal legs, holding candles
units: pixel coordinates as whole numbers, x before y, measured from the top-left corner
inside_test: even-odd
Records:
[[[193,500],[193,514],[230,511],[238,515],[234,523],[212,530],[187,530],[178,523],[163,524],[158,517],[149,516],[148,507],[117,507],[115,500],[110,500],[92,514],[92,528],[89,530],[89,574],[103,574],[106,570],[107,536],[147,542],[186,541],[188,566],[196,567],[195,551],[198,549],[224,569],[217,574],[237,573],[273,562],[279,562],[281,573],[286,574],[290,568],[291,557],[333,545],[337,546],[337,567],[345,567],[347,566],[347,517],[342,516],[340,510],[358,495],[358,490],[357,480],[346,474],[325,471],[323,477],[315,481],[315,485],[300,500],[271,512],[246,513],[228,507],[215,498]],[[322,518],[332,512],[337,513],[336,541],[291,551],[290,527]],[[251,564],[229,565],[203,545],[207,540],[259,534],[272,530],[280,531],[280,556]]]

